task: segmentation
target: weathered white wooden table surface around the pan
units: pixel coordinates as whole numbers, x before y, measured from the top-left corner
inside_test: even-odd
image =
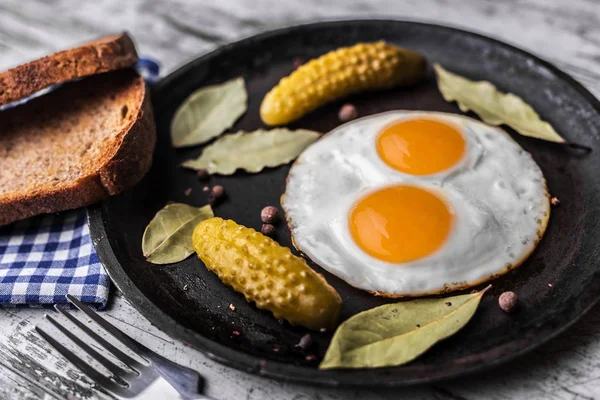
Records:
[[[164,74],[256,32],[302,21],[376,16],[434,21],[500,38],[555,63],[600,96],[596,0],[2,0],[0,70],[128,30],[141,54],[160,60]],[[224,367],[158,331],[116,290],[104,315],[148,347],[198,370],[207,393],[217,399],[600,399],[600,307],[560,337],[500,368],[432,387],[382,391],[280,383]],[[110,398],[36,335],[33,327],[42,317],[42,310],[0,310],[0,399]],[[147,398],[170,396],[152,389]]]

